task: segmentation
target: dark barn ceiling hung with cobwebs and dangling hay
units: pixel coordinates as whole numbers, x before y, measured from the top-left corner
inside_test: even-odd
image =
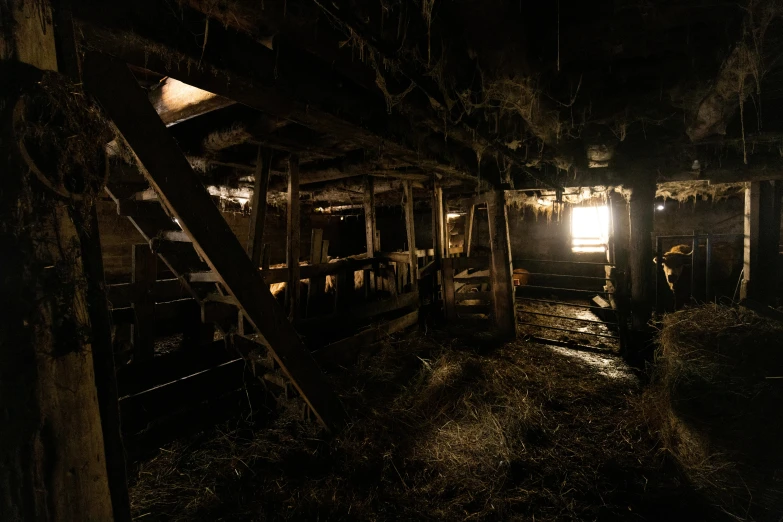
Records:
[[[82,49],[131,64],[215,193],[247,199],[263,145],[273,175],[295,152],[303,196],[337,205],[366,174],[380,202],[401,179],[473,193],[769,177],[782,10],[142,0],[78,2],[74,16]]]

